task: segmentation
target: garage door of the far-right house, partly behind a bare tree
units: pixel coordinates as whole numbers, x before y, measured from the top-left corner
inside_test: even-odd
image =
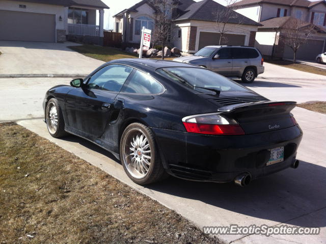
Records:
[[[307,44],[301,46],[296,52],[297,59],[315,60],[318,54],[323,52],[324,41],[321,40],[309,40]],[[285,46],[283,58],[293,58],[293,50]]]

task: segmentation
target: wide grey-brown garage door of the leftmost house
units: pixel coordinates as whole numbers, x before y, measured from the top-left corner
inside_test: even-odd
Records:
[[[0,40],[56,41],[54,14],[0,10]]]

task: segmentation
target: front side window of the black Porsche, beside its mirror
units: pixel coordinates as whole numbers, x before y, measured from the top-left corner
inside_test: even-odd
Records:
[[[98,70],[87,86],[92,89],[120,91],[133,68],[120,64],[107,65]]]

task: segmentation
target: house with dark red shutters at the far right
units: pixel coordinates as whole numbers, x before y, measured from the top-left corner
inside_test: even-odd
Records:
[[[263,55],[293,58],[291,48],[282,42],[286,23],[297,18],[315,25],[307,44],[296,54],[297,59],[314,60],[326,51],[326,2],[308,0],[242,0],[234,4],[236,11],[262,26],[258,27],[255,46]]]

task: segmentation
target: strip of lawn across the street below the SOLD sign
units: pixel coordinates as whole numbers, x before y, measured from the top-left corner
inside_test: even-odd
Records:
[[[87,57],[102,60],[104,62],[108,62],[115,59],[138,58],[138,55],[130,54],[118,50],[116,48],[107,47],[107,46],[82,45],[82,46],[69,46],[69,48]],[[172,60],[174,58],[175,57],[165,58],[165,60]]]

